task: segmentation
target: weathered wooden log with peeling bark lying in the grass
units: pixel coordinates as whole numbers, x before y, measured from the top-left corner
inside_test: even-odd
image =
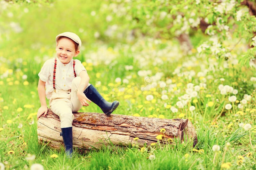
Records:
[[[105,116],[102,113],[74,113],[73,147],[91,149],[102,145],[130,145],[133,143],[143,146],[156,143],[156,136],[164,135],[161,142],[168,138],[181,141],[193,140],[197,143],[195,128],[188,119],[160,119],[150,117],[134,117],[126,115]],[[164,133],[160,130],[164,128]],[[46,141],[54,148],[63,144],[60,136],[60,119],[50,109],[45,117],[40,117],[37,123],[39,142]],[[134,138],[138,137],[138,141]],[[166,140],[165,140],[166,139]]]

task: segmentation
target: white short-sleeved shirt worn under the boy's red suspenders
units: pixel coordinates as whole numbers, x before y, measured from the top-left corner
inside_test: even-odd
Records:
[[[49,59],[44,62],[41,71],[38,73],[39,78],[46,82],[45,83],[45,96],[47,99],[50,99],[50,93],[53,91],[53,69],[54,69],[54,60]],[[75,60],[75,71],[76,76],[79,76],[80,72],[86,69],[79,60]],[[57,90],[69,90],[71,89],[72,80],[75,78],[74,69],[73,69],[73,59],[70,60],[68,64],[63,64],[57,58],[57,67],[56,67],[56,78],[55,78],[55,88]]]

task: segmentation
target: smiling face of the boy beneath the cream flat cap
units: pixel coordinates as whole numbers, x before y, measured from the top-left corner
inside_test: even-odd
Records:
[[[79,54],[79,50],[75,50],[73,40],[63,37],[59,39],[56,45],[56,56],[63,64],[68,64],[73,57]]]

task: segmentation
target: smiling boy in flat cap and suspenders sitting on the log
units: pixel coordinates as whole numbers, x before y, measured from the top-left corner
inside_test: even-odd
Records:
[[[38,109],[37,119],[42,114],[47,114],[46,96],[50,109],[60,117],[60,136],[68,157],[73,152],[72,112],[77,112],[82,106],[89,106],[88,102],[93,102],[109,116],[119,105],[117,101],[107,102],[89,83],[90,78],[81,61],[73,60],[80,53],[81,44],[81,39],[75,33],[63,32],[57,35],[56,58],[47,60],[38,74],[41,107]]]

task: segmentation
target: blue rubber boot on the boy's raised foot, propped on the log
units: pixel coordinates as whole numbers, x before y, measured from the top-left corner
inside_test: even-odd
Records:
[[[114,101],[113,103],[107,102],[92,84],[84,90],[84,94],[93,103],[97,104],[107,116],[109,116],[119,105],[118,101]]]

